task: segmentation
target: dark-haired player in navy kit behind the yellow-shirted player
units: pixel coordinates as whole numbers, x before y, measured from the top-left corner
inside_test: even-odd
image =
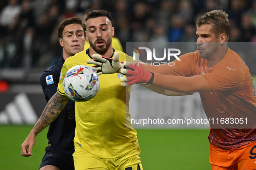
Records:
[[[63,49],[60,60],[49,66],[40,77],[42,90],[48,102],[56,93],[60,72],[65,60],[84,50],[85,25],[78,17],[65,19],[58,27],[59,43]],[[49,140],[40,170],[74,170],[75,102],[68,100],[62,113],[54,120],[47,133]],[[23,146],[23,145],[22,145]],[[23,156],[30,156],[24,155]]]

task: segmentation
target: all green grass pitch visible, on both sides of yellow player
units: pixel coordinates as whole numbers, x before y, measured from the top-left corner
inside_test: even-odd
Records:
[[[20,156],[20,145],[33,126],[0,126],[0,169],[37,170],[47,146],[43,130],[31,157]],[[210,170],[208,129],[136,129],[144,170]]]

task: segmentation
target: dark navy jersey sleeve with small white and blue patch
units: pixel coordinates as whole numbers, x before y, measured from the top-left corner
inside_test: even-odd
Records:
[[[40,77],[40,84],[45,95],[45,100],[48,102],[56,93],[58,87],[59,75],[54,72],[43,72]]]

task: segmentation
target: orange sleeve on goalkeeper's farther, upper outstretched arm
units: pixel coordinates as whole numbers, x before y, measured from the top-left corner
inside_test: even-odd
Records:
[[[192,69],[194,67],[194,54],[187,53],[179,57],[180,60],[174,60],[171,63],[164,63],[159,66],[143,65],[143,67],[149,72],[155,72],[169,76],[193,76]],[[173,64],[174,63],[174,64]]]

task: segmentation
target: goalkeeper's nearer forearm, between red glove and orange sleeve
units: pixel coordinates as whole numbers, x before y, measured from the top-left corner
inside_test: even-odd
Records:
[[[181,93],[213,91],[202,75],[182,77],[166,76],[155,73],[152,85]]]

